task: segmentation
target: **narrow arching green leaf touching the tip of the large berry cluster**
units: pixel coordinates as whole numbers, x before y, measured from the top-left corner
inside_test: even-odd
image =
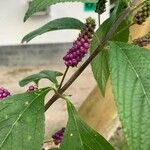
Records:
[[[55,31],[55,30],[62,30],[62,29],[78,29],[81,30],[83,28],[84,24],[75,18],[60,18],[55,19],[47,23],[46,25],[42,26],[41,28],[30,32],[27,34],[23,40],[23,42],[29,42],[33,38],[35,38],[38,35],[44,34],[49,31]]]

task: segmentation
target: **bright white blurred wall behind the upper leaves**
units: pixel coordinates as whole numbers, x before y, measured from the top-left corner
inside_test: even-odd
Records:
[[[86,17],[93,16],[97,19],[96,13],[84,12],[82,3],[66,3],[51,6],[50,16],[33,16],[24,23],[23,17],[27,6],[27,0],[0,1],[0,45],[20,44],[24,35],[56,18],[68,16],[83,21]],[[109,4],[107,4],[107,8],[108,6]],[[109,11],[105,12],[101,19],[104,20],[108,16]],[[35,38],[30,43],[71,42],[78,32],[76,30],[50,32]]]

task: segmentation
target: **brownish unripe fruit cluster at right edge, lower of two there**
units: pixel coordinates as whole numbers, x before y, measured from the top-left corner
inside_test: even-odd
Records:
[[[148,44],[150,44],[150,32],[147,35],[143,36],[143,37],[135,39],[133,41],[133,43],[140,46],[140,47],[147,46]]]

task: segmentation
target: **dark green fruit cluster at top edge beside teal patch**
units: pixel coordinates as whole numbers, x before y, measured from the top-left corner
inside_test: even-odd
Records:
[[[107,0],[99,0],[96,3],[96,10],[95,12],[97,12],[98,14],[102,14],[106,11],[106,2]]]

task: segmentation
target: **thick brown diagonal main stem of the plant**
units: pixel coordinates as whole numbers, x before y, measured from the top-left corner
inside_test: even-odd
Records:
[[[91,56],[83,63],[83,65],[70,77],[70,79],[66,82],[66,84],[58,90],[59,94],[63,94],[68,87],[78,78],[78,76],[84,71],[84,69],[91,63],[91,61],[103,50],[108,41],[112,39],[114,33],[116,32],[119,25],[123,22],[123,20],[129,15],[130,7],[127,7],[122,14],[119,16],[117,21],[112,25],[111,29],[104,37],[104,39],[100,42],[98,47],[93,51]],[[45,105],[45,111],[59,98],[58,94],[54,94],[54,96],[47,102]]]

